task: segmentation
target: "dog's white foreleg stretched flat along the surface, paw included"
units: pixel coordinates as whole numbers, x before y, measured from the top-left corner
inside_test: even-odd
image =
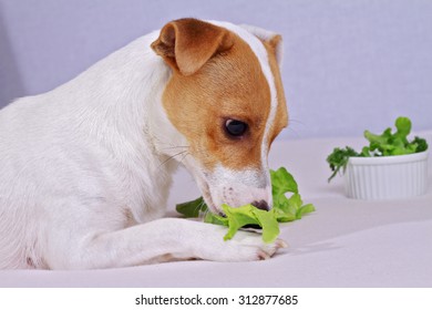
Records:
[[[53,269],[88,269],[136,266],[154,261],[198,258],[247,261],[272,256],[285,242],[266,245],[255,232],[238,231],[224,241],[226,228],[179,218],[163,218],[126,229],[102,232],[78,241],[78,248],[56,249]]]

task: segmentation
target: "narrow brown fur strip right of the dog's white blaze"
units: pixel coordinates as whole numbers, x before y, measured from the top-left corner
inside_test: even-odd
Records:
[[[285,99],[285,91],[284,91],[284,84],[280,76],[280,70],[279,70],[279,60],[277,54],[278,45],[281,44],[282,38],[279,34],[276,34],[271,37],[269,40],[264,41],[263,44],[267,50],[268,54],[268,61],[271,70],[271,74],[275,78],[275,86],[276,86],[276,95],[277,95],[277,108],[276,108],[276,116],[275,121],[271,125],[270,132],[269,132],[269,145],[274,142],[276,136],[286,127],[288,126],[288,111],[287,111],[287,102]]]

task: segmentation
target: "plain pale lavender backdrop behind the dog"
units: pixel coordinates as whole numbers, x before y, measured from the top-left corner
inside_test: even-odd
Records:
[[[284,35],[285,138],[360,135],[398,115],[432,128],[430,0],[0,0],[0,106],[182,17]]]

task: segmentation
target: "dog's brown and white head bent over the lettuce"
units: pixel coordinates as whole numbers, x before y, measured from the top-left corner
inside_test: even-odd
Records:
[[[210,210],[220,214],[224,203],[269,209],[267,155],[288,122],[280,35],[182,19],[167,23],[152,48],[172,68],[163,106]]]

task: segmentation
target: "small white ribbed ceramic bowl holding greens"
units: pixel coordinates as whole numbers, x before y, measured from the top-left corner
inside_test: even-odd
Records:
[[[356,199],[399,199],[428,190],[428,152],[383,157],[350,157],[346,195]]]

